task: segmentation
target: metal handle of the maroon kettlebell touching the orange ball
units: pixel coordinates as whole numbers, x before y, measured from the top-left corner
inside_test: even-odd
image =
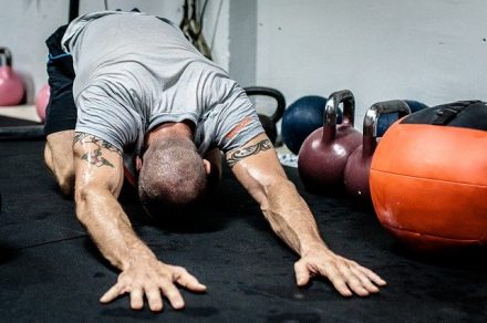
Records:
[[[379,117],[386,113],[398,113],[398,118],[411,114],[410,106],[402,100],[377,102],[372,105],[363,118],[363,156],[372,156],[377,145]]]

